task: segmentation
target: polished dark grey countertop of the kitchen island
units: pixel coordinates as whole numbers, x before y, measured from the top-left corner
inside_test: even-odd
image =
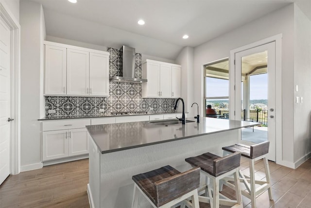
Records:
[[[192,120],[188,119],[187,120]],[[193,120],[194,121],[194,120]],[[150,121],[86,126],[102,154],[171,142],[217,132],[256,126],[260,123],[202,117],[200,123],[160,126]],[[193,138],[195,139],[195,138]]]

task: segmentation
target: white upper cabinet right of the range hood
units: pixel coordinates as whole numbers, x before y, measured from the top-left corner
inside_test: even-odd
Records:
[[[147,59],[142,65],[142,97],[175,98],[181,95],[181,67],[177,64]]]

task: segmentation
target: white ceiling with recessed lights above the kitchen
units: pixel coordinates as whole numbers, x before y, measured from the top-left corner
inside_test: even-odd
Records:
[[[49,36],[175,59],[294,0],[33,0],[42,4]],[[309,0],[308,0],[309,1]],[[146,24],[140,26],[138,19]],[[182,39],[188,34],[188,39]]]

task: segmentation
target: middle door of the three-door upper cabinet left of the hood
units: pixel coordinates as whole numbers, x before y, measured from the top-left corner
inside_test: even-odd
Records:
[[[67,49],[67,95],[89,94],[89,53]]]

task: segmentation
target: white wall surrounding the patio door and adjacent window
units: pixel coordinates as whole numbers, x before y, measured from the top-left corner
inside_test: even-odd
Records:
[[[202,77],[206,63],[229,57],[230,50],[282,34],[282,160],[294,162],[294,4],[276,10],[194,48],[194,77]],[[230,71],[231,73],[231,71]],[[203,103],[203,79],[195,81],[194,98]],[[203,108],[201,108],[203,111]],[[277,111],[277,109],[276,109]],[[203,112],[201,112],[202,114]]]

